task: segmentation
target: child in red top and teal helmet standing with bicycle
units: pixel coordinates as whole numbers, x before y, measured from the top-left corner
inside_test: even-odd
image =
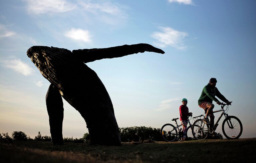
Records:
[[[182,99],[182,105],[180,106],[180,120],[181,124],[183,126],[182,131],[183,131],[183,137],[181,138],[181,141],[184,141],[186,139],[186,134],[187,134],[187,121],[188,117],[192,115],[192,112],[189,112],[189,108],[187,107],[188,100],[186,98]]]

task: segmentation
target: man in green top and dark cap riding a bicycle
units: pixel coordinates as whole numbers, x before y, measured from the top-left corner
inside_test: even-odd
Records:
[[[201,96],[198,100],[199,107],[203,108],[205,110],[205,118],[203,119],[203,122],[206,124],[209,124],[211,127],[214,126],[214,115],[213,115],[213,108],[214,104],[212,104],[212,101],[215,101],[218,105],[221,104],[221,102],[215,97],[217,96],[222,101],[226,102],[228,105],[231,104],[229,100],[227,100],[218,90],[216,86],[217,80],[216,78],[211,78],[209,83],[203,88],[203,91],[201,93]],[[208,116],[210,116],[210,121]]]

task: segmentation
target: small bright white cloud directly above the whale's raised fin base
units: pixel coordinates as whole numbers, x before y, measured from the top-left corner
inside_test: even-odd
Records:
[[[91,35],[87,30],[72,28],[65,36],[76,41],[91,42]]]

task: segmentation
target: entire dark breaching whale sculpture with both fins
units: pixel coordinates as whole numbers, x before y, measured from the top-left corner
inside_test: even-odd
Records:
[[[61,96],[84,118],[92,144],[121,145],[119,128],[108,92],[97,74],[85,63],[123,57],[161,49],[149,44],[123,45],[102,49],[67,49],[33,46],[27,56],[50,81],[46,94],[50,133],[54,145],[62,145],[63,101]]]

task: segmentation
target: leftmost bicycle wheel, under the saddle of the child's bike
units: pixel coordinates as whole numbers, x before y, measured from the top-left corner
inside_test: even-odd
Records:
[[[168,123],[161,128],[161,135],[165,141],[174,141],[178,137],[178,131],[174,125]]]

